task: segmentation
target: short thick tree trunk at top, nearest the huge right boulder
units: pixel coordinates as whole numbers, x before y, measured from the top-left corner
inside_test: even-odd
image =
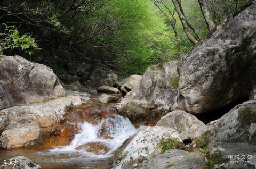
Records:
[[[212,21],[211,15],[209,10],[207,9],[207,5],[206,5],[206,1],[205,0],[198,0],[201,11],[204,15],[204,20],[207,24],[207,27],[209,29],[209,31],[212,31],[215,28],[215,24]]]

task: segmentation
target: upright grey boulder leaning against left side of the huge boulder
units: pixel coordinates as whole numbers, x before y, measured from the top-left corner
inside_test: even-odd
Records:
[[[156,105],[177,102],[179,84],[177,64],[178,61],[170,61],[149,67],[143,74],[140,84],[126,97],[145,100]]]

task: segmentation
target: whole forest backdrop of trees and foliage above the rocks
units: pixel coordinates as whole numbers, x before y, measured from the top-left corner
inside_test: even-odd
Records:
[[[3,0],[0,46],[57,73],[78,61],[121,76],[143,74],[150,65],[177,60],[246,2]]]

